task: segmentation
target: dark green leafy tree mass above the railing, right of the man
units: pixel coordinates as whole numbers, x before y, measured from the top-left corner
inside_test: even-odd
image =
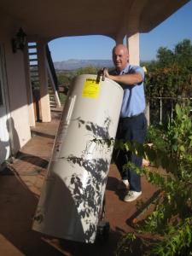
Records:
[[[175,49],[160,47],[157,61],[148,65],[147,96],[192,96],[192,45],[184,39]]]

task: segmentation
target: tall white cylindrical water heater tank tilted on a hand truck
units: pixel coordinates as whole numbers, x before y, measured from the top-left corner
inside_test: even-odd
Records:
[[[32,229],[94,242],[123,99],[123,89],[96,75],[73,79]]]

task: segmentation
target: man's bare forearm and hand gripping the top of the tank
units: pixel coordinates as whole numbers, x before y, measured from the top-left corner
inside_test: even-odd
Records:
[[[120,84],[132,85],[132,84],[139,84],[143,82],[143,76],[141,73],[130,73],[130,74],[114,76],[108,73],[107,68],[104,68],[102,70],[102,73],[104,78],[112,79],[113,81]]]

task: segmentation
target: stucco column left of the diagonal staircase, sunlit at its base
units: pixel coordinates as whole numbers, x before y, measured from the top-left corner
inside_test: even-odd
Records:
[[[38,41],[38,72],[40,81],[40,111],[42,122],[50,122],[48,74],[44,41]]]

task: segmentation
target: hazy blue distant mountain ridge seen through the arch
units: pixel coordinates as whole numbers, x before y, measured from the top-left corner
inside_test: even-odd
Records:
[[[67,60],[54,62],[56,70],[75,70],[80,67],[113,67],[113,61],[110,60]]]

